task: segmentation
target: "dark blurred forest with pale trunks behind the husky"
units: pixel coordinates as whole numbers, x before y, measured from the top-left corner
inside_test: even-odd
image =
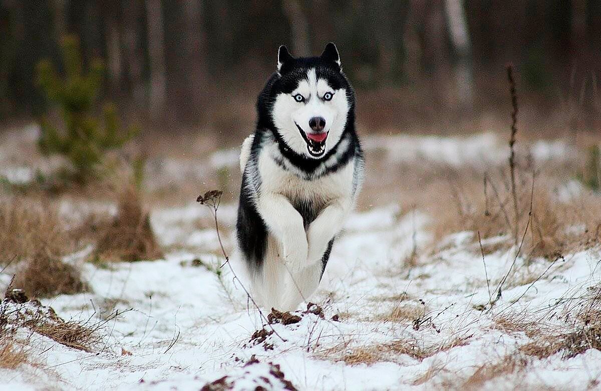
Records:
[[[278,45],[329,41],[369,129],[505,116],[509,62],[522,102],[600,124],[601,0],[0,0],[0,122],[47,109],[35,66],[60,66],[66,34],[105,61],[103,99],[148,127],[247,127]]]

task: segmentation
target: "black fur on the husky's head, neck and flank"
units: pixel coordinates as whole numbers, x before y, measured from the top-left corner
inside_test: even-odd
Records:
[[[261,91],[257,99],[257,129],[255,131],[254,141],[251,146],[251,153],[248,164],[256,164],[258,153],[262,144],[275,138],[281,152],[281,160],[276,161],[281,167],[285,168],[286,159],[294,165],[299,171],[305,174],[306,179],[316,179],[314,175],[318,168],[323,168],[323,164],[332,155],[337,156],[334,164],[328,164],[323,170],[319,170],[320,176],[335,172],[344,167],[353,157],[362,161],[363,153],[359,144],[359,139],[355,131],[355,91],[342,72],[338,61],[338,51],[334,44],[328,44],[320,57],[293,58],[288,53],[285,46],[281,46],[278,51],[278,61],[281,64],[279,72],[274,73]],[[291,93],[301,79],[307,78],[307,72],[310,69],[316,69],[317,78],[326,79],[332,88],[338,90],[346,89],[347,100],[349,102],[349,112],[344,132],[338,143],[325,155],[316,158],[309,158],[300,155],[286,146],[281,135],[279,135],[271,116],[275,97],[280,93]],[[347,147],[339,150],[342,140],[347,140]],[[353,184],[354,186],[354,184]],[[246,261],[250,268],[258,272],[261,270],[263,256],[267,244],[267,227],[261,219],[254,204],[253,191],[260,192],[260,177],[258,172],[254,177],[249,177],[245,172],[242,177],[242,188],[240,189],[240,203],[238,208],[238,220],[236,223],[237,239]],[[313,220],[317,218],[320,210],[311,205],[310,200],[292,201],[294,209],[301,214],[305,230]],[[325,270],[334,238],[329,242],[328,248],[322,257],[322,274]]]

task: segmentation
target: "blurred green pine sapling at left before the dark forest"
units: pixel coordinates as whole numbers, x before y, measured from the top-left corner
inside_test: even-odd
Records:
[[[105,155],[118,149],[136,135],[138,128],[122,129],[114,104],[103,108],[103,125],[94,115],[104,66],[92,60],[84,72],[78,38],[68,35],[61,41],[65,75],[61,77],[49,60],[37,65],[37,82],[50,103],[58,105],[62,126],[53,125],[47,116],[41,119],[40,152],[46,156],[63,155],[71,165],[69,176],[85,183],[100,176]]]

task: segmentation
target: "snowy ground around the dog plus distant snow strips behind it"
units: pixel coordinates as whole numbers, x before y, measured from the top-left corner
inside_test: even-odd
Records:
[[[392,138],[389,143],[373,138],[366,147],[386,145],[395,161],[438,159],[457,165],[477,164],[483,156],[491,164],[504,159],[492,135],[478,137]],[[403,155],[396,143],[409,145]],[[466,152],[477,150],[469,143],[479,146],[480,155]],[[536,145],[533,154],[542,161],[568,149]],[[230,155],[235,159],[228,152],[214,156],[214,164],[226,164]],[[233,238],[227,227],[233,226],[235,211],[235,205],[219,209],[228,252]],[[518,349],[531,338],[497,322],[502,316],[551,313],[549,319],[561,324],[553,316],[564,300],[599,286],[598,251],[564,254],[555,261],[526,263],[517,257],[511,268],[515,248],[487,254],[483,262],[472,233],[455,233],[432,247],[426,229],[432,216],[395,205],[374,208],[353,214],[334,245],[320,289],[310,298],[323,308],[323,318],[304,313],[304,306],[298,322],[264,325],[227,266],[221,276],[215,272],[223,263],[215,230],[196,224],[208,217],[209,209],[198,204],[156,209],[152,224],[168,249],[165,259],[83,264],[90,293],[42,303],[66,320],[124,311],[103,328],[103,348],[86,353],[36,336],[32,352],[41,365],[0,369],[0,389],[192,390],[212,382],[214,389],[221,384],[236,390],[285,389],[287,384],[305,390],[460,388],[479,367],[508,356],[524,357],[527,370],[516,366],[478,387],[599,387],[600,351],[589,349],[570,359],[561,353],[525,357]],[[504,238],[483,245],[499,240]],[[415,265],[407,266],[415,250]],[[85,252],[69,262],[80,262]],[[502,297],[490,308],[507,274]],[[2,286],[10,279],[0,277]],[[251,338],[263,329],[264,338]]]

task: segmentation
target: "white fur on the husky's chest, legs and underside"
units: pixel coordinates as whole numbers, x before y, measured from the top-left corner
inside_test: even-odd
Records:
[[[240,164],[248,159],[245,146],[250,143],[247,138],[243,144]],[[308,180],[282,168],[277,159],[281,154],[270,138],[261,148],[256,167],[261,179],[256,202],[268,234],[263,272],[253,276],[253,291],[267,309],[294,310],[319,285],[322,256],[355,206],[355,163],[349,161],[335,173]],[[321,210],[306,232],[292,205],[299,199],[311,200]]]

